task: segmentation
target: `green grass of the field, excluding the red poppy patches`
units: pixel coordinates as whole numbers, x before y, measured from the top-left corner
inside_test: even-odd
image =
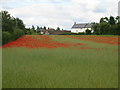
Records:
[[[54,36],[50,36],[53,37]],[[63,36],[61,36],[63,37]],[[3,49],[3,88],[117,88],[118,52],[116,45],[75,39],[103,50]]]

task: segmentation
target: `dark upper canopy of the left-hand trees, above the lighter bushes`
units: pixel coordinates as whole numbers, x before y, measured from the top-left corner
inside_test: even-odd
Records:
[[[14,28],[19,28],[26,33],[25,25],[19,18],[14,18],[8,11],[1,11],[2,14],[2,31],[13,32]]]

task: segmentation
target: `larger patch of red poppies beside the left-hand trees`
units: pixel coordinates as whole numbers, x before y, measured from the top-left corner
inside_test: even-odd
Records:
[[[53,41],[52,38],[45,35],[24,35],[18,38],[16,41],[10,42],[2,46],[3,48],[12,47],[27,47],[27,48],[58,48],[58,47],[69,47],[64,43]]]

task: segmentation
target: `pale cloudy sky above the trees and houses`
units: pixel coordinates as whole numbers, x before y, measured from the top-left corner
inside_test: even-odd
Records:
[[[47,26],[70,30],[74,22],[99,22],[101,17],[118,15],[119,0],[1,0],[7,10],[23,20],[26,27]]]

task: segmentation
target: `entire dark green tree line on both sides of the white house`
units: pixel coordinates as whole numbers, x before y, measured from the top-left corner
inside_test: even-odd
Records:
[[[14,41],[21,37],[22,35],[40,35],[41,30],[49,30],[44,27],[39,27],[35,29],[32,25],[32,28],[26,28],[24,22],[16,17],[11,16],[8,11],[1,11],[0,12],[0,20],[2,19],[2,44],[6,44],[10,41]],[[0,22],[1,24],[1,22]],[[94,35],[120,35],[120,17],[102,17],[99,23],[92,23],[93,24],[93,34]],[[60,30],[57,27],[56,30]],[[63,30],[63,29],[62,29]],[[71,33],[68,33],[72,35]],[[86,30],[86,34],[82,33],[83,35],[90,35],[91,31]]]

